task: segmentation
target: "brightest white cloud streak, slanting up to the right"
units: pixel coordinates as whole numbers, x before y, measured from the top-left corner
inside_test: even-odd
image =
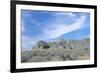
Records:
[[[67,34],[69,32],[81,29],[84,27],[85,16],[81,16],[73,24],[54,24],[51,27],[45,28],[43,34],[48,37],[48,39],[53,39]]]

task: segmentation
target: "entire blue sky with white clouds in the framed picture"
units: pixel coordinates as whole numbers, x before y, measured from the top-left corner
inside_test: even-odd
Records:
[[[21,10],[21,25],[23,50],[32,49],[39,40],[79,40],[90,36],[89,13]]]

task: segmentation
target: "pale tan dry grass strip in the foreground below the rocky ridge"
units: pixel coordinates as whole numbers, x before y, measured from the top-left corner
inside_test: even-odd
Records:
[[[88,60],[89,51],[84,49],[33,49],[22,52],[21,62],[47,62],[47,61],[67,61],[67,60]]]

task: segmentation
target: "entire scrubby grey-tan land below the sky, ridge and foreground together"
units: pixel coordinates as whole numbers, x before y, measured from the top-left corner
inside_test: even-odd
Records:
[[[89,42],[89,39],[39,41],[31,51],[22,52],[21,62],[87,60],[90,57]]]

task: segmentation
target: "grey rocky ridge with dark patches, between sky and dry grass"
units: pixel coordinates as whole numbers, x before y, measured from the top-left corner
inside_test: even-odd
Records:
[[[65,48],[65,49],[75,49],[75,48],[81,48],[81,49],[87,49],[90,48],[90,40],[89,38],[82,39],[82,40],[64,40],[60,39],[58,41],[54,42],[45,42],[45,41],[39,41],[35,46],[33,46],[33,49],[49,49],[49,48]]]

